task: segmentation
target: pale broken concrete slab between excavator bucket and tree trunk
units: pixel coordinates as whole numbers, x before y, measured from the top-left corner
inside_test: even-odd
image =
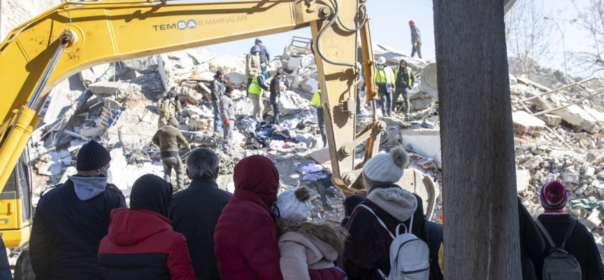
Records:
[[[440,158],[440,130],[412,129],[400,130],[403,137],[403,145],[410,146],[415,153],[426,158],[433,158],[438,168],[442,168],[443,162]]]

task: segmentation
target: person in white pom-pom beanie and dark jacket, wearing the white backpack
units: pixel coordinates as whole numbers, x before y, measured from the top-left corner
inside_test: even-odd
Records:
[[[401,223],[405,225],[401,232],[410,229],[427,243],[422,199],[396,185],[408,163],[407,153],[396,147],[365,164],[362,176],[367,198],[352,211],[346,224],[350,239],[338,261],[350,279],[384,279],[380,272],[389,275],[391,234]]]

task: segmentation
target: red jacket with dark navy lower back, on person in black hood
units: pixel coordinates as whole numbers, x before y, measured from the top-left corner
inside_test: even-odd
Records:
[[[101,279],[194,280],[184,235],[153,211],[111,211],[108,235],[99,246]]]

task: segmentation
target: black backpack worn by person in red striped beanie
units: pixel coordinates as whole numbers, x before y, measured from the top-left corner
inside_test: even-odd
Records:
[[[552,246],[552,248],[549,249],[549,255],[547,255],[543,261],[541,278],[543,280],[581,280],[581,265],[577,262],[577,259],[573,255],[570,255],[564,248],[568,237],[570,237],[570,233],[572,233],[573,228],[575,228],[577,220],[572,219],[572,221],[570,221],[564,241],[559,247],[556,246],[554,240],[543,224],[539,220],[535,220],[535,223],[541,232],[543,232],[543,235],[545,235],[545,238],[549,242],[549,246]]]

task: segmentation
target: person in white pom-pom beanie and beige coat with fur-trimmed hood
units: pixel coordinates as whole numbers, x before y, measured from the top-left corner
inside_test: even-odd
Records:
[[[277,209],[283,279],[344,279],[343,271],[333,262],[343,250],[348,232],[337,223],[308,222],[312,209],[310,190],[285,190],[277,198]]]

